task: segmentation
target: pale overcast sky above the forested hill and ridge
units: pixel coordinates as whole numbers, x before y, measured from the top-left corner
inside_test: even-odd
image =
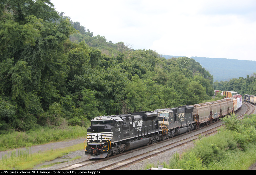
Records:
[[[163,55],[256,61],[256,1],[52,0],[107,41]]]

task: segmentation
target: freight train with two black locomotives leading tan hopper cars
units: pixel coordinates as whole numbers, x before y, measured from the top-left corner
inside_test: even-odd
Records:
[[[105,158],[206,126],[242,106],[242,96],[132,114],[98,116],[87,130],[84,151]]]

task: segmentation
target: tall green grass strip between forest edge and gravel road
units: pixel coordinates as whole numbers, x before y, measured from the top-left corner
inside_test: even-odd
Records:
[[[65,129],[40,127],[27,132],[7,132],[0,135],[0,151],[29,147],[87,136],[87,127],[67,126]]]

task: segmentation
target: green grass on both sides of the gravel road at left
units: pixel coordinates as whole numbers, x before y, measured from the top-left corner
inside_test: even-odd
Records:
[[[16,149],[27,147],[25,151],[16,150],[2,157],[0,160],[1,170],[25,170],[62,157],[71,151],[84,149],[84,143],[63,149],[50,149],[39,153],[34,153],[32,145],[45,144],[49,142],[63,141],[69,139],[82,138],[87,136],[87,127],[67,126],[64,129],[40,127],[28,132],[8,132],[0,135],[0,150]],[[77,157],[78,158],[78,157]]]

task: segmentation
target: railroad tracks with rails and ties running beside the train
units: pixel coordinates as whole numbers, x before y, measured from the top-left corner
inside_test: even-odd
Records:
[[[238,119],[242,119],[244,117],[245,114],[252,114],[254,111],[255,111],[255,107],[254,105],[250,104],[250,103],[247,103],[247,102],[243,102],[243,104],[245,104],[246,106],[248,106],[248,109],[247,111],[238,116],[237,118]],[[219,122],[216,122],[216,124],[219,123]],[[98,169],[95,169],[95,170],[117,170],[117,169],[121,169],[123,167],[127,167],[127,166],[130,166],[130,165],[133,165],[133,164],[136,164],[138,162],[141,162],[143,160],[146,160],[146,159],[150,159],[151,157],[153,156],[156,156],[156,155],[159,155],[163,152],[166,152],[168,150],[171,150],[171,149],[175,149],[179,146],[183,146],[185,144],[188,144],[189,142],[195,140],[195,139],[198,139],[199,138],[199,134],[201,134],[200,136],[203,137],[203,136],[209,136],[209,135],[212,135],[212,134],[215,134],[216,132],[218,132],[218,129],[223,126],[224,124],[220,124],[212,129],[209,129],[207,131],[201,131],[200,133],[197,133],[197,134],[194,134],[193,136],[191,137],[187,137],[183,140],[179,140],[179,141],[176,141],[176,142],[173,142],[173,143],[170,143],[170,144],[167,144],[167,145],[164,145],[164,146],[161,146],[161,147],[158,147],[156,149],[153,149],[151,151],[148,151],[148,152],[145,152],[145,153],[141,153],[141,154],[138,154],[136,156],[132,156],[132,157],[129,157],[129,158],[125,158],[123,159],[122,161],[118,161],[118,162],[114,162],[114,159],[116,156],[121,156],[120,154],[116,155],[116,156],[111,156],[109,158],[105,158],[105,159],[90,159],[90,160],[85,160],[85,161],[82,161],[82,162],[79,162],[79,163],[76,163],[76,164],[72,164],[72,165],[69,165],[69,166],[66,166],[66,167],[62,167],[62,168],[59,168],[58,170],[75,170],[75,169],[80,169],[82,167],[86,168],[87,166],[89,165],[92,165],[92,164],[98,164],[102,161],[108,161],[110,162],[109,165],[107,166],[102,166],[101,168],[98,168]],[[209,125],[209,126],[212,126],[212,125]],[[200,129],[199,129],[200,130]],[[198,131],[198,130],[196,130]],[[176,137],[177,138],[177,137]],[[158,143],[163,143],[163,142],[166,142],[168,141],[169,139],[167,140],[164,140],[162,142],[158,142]],[[150,147],[150,146],[153,146],[153,145],[156,145],[156,144],[151,144],[149,146],[146,146],[146,147]],[[143,147],[145,148],[145,147]],[[134,152],[136,150],[140,150],[141,148],[137,148],[135,150],[131,150],[131,151],[126,151],[125,153],[123,154],[128,154],[130,152]],[[122,154],[122,155],[123,155]],[[114,162],[114,163],[112,163]]]

